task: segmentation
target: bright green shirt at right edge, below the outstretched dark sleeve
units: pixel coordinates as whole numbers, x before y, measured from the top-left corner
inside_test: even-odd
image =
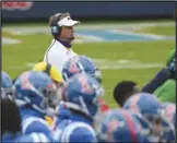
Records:
[[[154,95],[163,103],[176,103],[176,81],[167,80]]]

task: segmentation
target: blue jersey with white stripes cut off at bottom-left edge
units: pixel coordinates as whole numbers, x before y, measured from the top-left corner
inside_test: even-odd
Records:
[[[28,143],[39,143],[39,142],[52,142],[52,139],[45,135],[44,133],[31,133],[27,135],[22,134],[4,134],[2,135],[2,143],[14,143],[14,142],[28,142]]]

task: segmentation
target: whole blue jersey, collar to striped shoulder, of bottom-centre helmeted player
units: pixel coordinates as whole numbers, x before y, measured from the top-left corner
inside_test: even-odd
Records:
[[[61,115],[62,114],[62,117]],[[55,121],[54,139],[57,142],[96,142],[92,121],[64,108]]]

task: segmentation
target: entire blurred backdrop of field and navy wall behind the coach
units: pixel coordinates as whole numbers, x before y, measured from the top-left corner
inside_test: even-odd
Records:
[[[81,21],[73,50],[102,70],[106,102],[122,80],[146,84],[175,48],[175,2],[2,2],[2,70],[15,78],[43,60],[51,43],[49,16]]]

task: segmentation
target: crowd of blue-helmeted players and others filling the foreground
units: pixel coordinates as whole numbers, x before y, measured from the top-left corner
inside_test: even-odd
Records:
[[[113,92],[119,106],[110,109],[101,70],[88,57],[71,58],[62,73],[46,62],[14,80],[2,71],[1,140],[176,142],[175,72],[174,50],[142,90],[135,82],[119,82]]]

